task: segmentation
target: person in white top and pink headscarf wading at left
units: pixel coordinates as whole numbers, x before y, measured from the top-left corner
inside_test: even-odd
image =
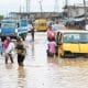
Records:
[[[11,38],[8,36],[7,40],[3,42],[6,64],[8,64],[9,58],[11,63],[13,63],[13,57],[12,57],[13,50],[14,50],[14,44],[11,42]]]

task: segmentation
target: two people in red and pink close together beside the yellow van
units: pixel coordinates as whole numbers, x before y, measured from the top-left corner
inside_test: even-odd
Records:
[[[57,26],[58,26],[58,22],[56,22],[56,24],[47,26],[47,41],[48,41],[47,56],[51,57],[55,57],[57,55],[57,51],[56,51],[57,44],[55,41],[56,32],[54,31],[55,29],[58,29]]]

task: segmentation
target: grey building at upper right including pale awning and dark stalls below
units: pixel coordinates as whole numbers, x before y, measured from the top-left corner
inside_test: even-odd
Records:
[[[85,29],[88,21],[88,6],[65,6],[64,18],[67,18],[67,26]]]

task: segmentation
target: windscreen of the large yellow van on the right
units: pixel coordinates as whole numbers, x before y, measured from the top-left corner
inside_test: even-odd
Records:
[[[66,33],[64,43],[88,43],[88,33]]]

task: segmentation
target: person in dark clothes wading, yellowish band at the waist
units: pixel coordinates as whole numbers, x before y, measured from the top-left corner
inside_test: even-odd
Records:
[[[16,48],[16,54],[18,54],[18,64],[19,66],[23,66],[26,50],[24,47],[24,44],[21,37],[18,37],[15,48]]]

